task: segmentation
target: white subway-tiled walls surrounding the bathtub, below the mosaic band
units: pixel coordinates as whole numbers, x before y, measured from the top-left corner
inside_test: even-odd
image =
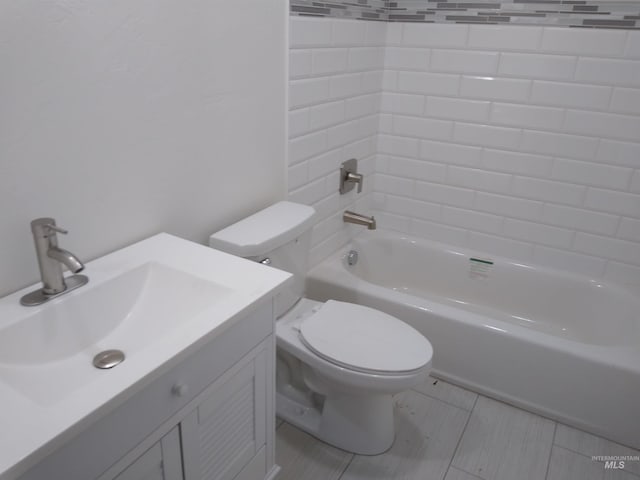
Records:
[[[354,208],[382,228],[640,285],[640,32],[291,27],[290,190],[324,219],[314,263],[357,232],[340,222],[355,194],[337,195],[337,165],[353,152],[366,192],[376,172]],[[356,104],[366,109],[352,120]]]

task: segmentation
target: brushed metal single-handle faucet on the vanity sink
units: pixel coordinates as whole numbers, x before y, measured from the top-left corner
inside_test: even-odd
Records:
[[[66,234],[67,231],[58,227],[53,218],[36,218],[31,222],[31,232],[36,246],[42,288],[22,297],[20,299],[22,305],[40,305],[89,281],[85,275],[72,275],[65,278],[62,274],[62,264],[71,273],[81,272],[84,270],[84,265],[71,252],[58,247],[57,234]]]

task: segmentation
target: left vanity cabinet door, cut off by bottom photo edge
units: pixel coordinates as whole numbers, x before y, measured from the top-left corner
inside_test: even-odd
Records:
[[[183,480],[178,427],[140,455],[114,480]]]

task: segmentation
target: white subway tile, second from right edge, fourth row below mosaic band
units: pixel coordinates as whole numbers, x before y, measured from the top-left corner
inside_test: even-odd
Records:
[[[510,127],[556,130],[562,126],[564,110],[561,108],[494,103],[491,123]]]

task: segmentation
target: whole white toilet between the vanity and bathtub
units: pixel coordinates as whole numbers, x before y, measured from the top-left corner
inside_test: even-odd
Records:
[[[376,455],[395,437],[392,395],[425,380],[433,349],[395,317],[303,297],[312,207],[279,202],[210,237],[210,245],[294,275],[276,298],[276,411],[344,450]]]

